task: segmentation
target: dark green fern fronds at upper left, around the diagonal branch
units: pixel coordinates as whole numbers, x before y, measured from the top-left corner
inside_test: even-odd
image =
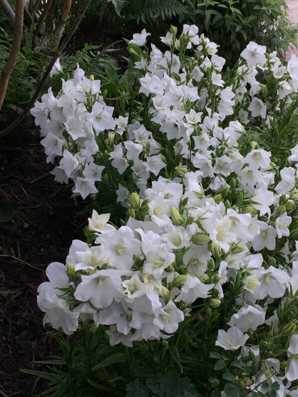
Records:
[[[7,92],[0,116],[3,127],[20,114],[35,92],[38,83],[52,57],[52,48],[35,47],[32,49],[33,27],[24,30],[20,53],[16,67],[9,79]],[[12,36],[0,27],[0,70],[3,67],[11,45]],[[100,46],[85,44],[84,48],[73,54],[63,54],[60,63],[64,73],[73,73],[77,63],[85,70],[86,76],[91,74],[97,79],[104,79],[107,69],[114,73],[118,69],[117,62],[111,58],[116,49],[112,46],[101,50]],[[61,76],[48,78],[41,95],[52,87],[54,95],[61,89]]]

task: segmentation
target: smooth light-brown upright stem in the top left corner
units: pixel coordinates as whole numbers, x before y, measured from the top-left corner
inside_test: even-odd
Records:
[[[16,0],[13,40],[11,44],[9,57],[5,65],[3,66],[0,77],[0,110],[4,101],[4,96],[7,90],[9,77],[17,61],[17,56],[19,53],[21,39],[22,39],[23,19],[24,19],[24,0]]]

